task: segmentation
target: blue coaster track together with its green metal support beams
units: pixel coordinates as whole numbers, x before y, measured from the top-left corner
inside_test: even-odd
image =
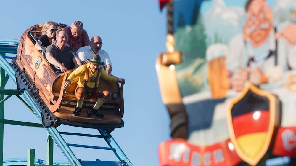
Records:
[[[6,47],[5,47],[6,48]],[[17,47],[15,47],[12,50],[15,50],[11,53],[16,53]],[[26,90],[7,90],[5,89],[5,84],[7,83],[9,77],[12,79],[12,81],[16,84],[16,78],[15,78],[15,71],[12,68],[11,64],[7,62],[5,58],[16,58],[16,57],[6,57],[5,52],[7,50],[3,51],[1,53],[0,48],[0,166],[3,165],[3,126],[4,123],[12,124],[12,125],[23,125],[23,126],[33,126],[33,127],[43,127],[41,124],[36,123],[30,123],[30,122],[20,122],[20,121],[12,121],[12,120],[6,120],[4,119],[4,101],[7,100],[11,95],[16,95],[28,108],[30,108],[31,111],[38,117],[38,119],[42,122],[42,114],[41,114],[41,108],[40,103],[36,102],[28,91]],[[10,53],[10,52],[9,52]],[[5,75],[5,72],[7,74]],[[21,93],[21,94],[20,94]],[[7,98],[4,97],[4,95],[9,95]],[[22,95],[23,98],[26,100],[23,100],[19,95]],[[43,109],[43,108],[42,108]],[[79,133],[67,133],[67,132],[59,132],[56,128],[45,128],[48,132],[47,134],[47,154],[46,154],[46,164],[47,165],[53,165],[53,140],[59,146],[62,153],[65,155],[65,157],[68,159],[70,164],[72,166],[92,166],[92,165],[114,165],[114,166],[133,166],[129,159],[126,157],[126,155],[123,153],[123,151],[120,149],[118,144],[115,142],[113,137],[110,135],[110,133],[106,133],[106,131],[102,129],[98,129],[101,135],[90,135],[90,134],[79,134]],[[91,137],[98,137],[98,138],[104,138],[108,147],[99,147],[99,146],[82,146],[82,145],[76,145],[76,144],[67,144],[61,134],[68,134],[68,135],[80,135],[80,136],[91,136]],[[70,149],[69,146],[78,146],[78,147],[86,147],[86,148],[95,148],[95,149],[106,149],[106,150],[112,150],[116,157],[119,159],[118,162],[103,162],[100,160],[97,161],[80,161],[76,158],[73,151]],[[28,166],[33,166],[35,160],[35,150],[29,149],[28,150]]]

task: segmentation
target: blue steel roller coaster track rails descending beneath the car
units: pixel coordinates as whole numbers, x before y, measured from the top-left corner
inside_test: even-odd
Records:
[[[4,41],[4,40],[0,40]],[[15,40],[7,40],[7,41],[15,41]],[[3,52],[2,52],[3,53]],[[6,53],[15,53],[6,51]],[[12,67],[12,65],[6,60],[7,57],[0,56],[0,66],[5,70],[7,75],[12,79],[12,81],[17,84],[16,78],[15,78],[15,70]],[[42,114],[41,110],[38,108],[38,103],[34,101],[34,99],[31,97],[28,91],[26,90],[20,90],[22,96],[25,98],[26,103],[30,108],[32,108],[35,115],[38,117],[40,122],[42,122]],[[123,151],[120,149],[119,145],[116,143],[114,138],[111,136],[110,133],[107,133],[106,131],[102,129],[98,129],[99,133],[101,135],[89,135],[89,134],[80,134],[80,133],[67,133],[67,132],[59,132],[57,128],[54,127],[44,127],[49,135],[52,137],[52,139],[55,141],[57,146],[61,149],[62,153],[65,155],[67,160],[70,162],[73,166],[89,166],[89,165],[102,165],[102,166],[133,166],[132,163],[129,161],[129,159],[126,157],[126,155],[123,153]],[[77,145],[77,144],[69,144],[66,143],[63,139],[62,135],[78,135],[78,136],[87,136],[87,137],[96,137],[96,138],[104,138],[104,140],[107,142],[109,147],[99,147],[99,146],[87,146],[87,145]],[[115,156],[119,159],[118,162],[104,162],[100,160],[96,161],[81,161],[80,159],[77,159],[73,151],[70,149],[69,146],[75,146],[75,147],[83,147],[83,148],[94,148],[94,149],[104,149],[104,150],[112,150],[115,154]]]

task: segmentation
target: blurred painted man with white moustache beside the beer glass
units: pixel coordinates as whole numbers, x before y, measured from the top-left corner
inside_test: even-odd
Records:
[[[247,80],[265,84],[296,68],[296,26],[285,22],[275,27],[266,0],[247,0],[245,9],[248,18],[243,34],[232,38],[226,57],[229,85],[236,91],[241,91]]]

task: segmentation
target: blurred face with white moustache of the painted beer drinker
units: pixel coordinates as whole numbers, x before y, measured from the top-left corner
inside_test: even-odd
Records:
[[[248,20],[244,26],[244,37],[258,47],[266,41],[273,27],[273,15],[265,0],[254,0],[247,9]]]

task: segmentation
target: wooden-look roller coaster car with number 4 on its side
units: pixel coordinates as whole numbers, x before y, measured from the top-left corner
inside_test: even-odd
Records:
[[[12,60],[17,79],[17,88],[27,90],[41,110],[44,127],[57,127],[60,124],[101,128],[112,131],[124,126],[123,117],[123,84],[100,79],[99,87],[108,90],[112,98],[104,103],[100,110],[104,119],[95,115],[87,116],[96,102],[96,98],[84,99],[82,112],[79,116],[72,113],[76,107],[74,94],[78,82],[76,77],[67,90],[63,89],[67,76],[73,71],[56,74],[45,58],[44,51],[35,49],[35,43],[41,36],[43,24],[28,28],[20,37],[17,58]]]

